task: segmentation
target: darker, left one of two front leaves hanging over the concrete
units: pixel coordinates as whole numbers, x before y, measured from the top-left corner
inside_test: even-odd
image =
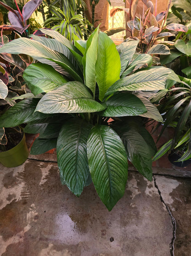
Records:
[[[57,141],[57,159],[61,180],[80,196],[89,177],[87,139],[91,125],[82,120],[71,120],[62,126]]]

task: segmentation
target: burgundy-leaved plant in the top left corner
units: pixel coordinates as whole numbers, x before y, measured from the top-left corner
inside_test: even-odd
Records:
[[[17,5],[17,1],[14,0],[14,2],[15,2],[15,5],[17,6],[17,10],[14,10],[11,6],[7,5],[5,2],[0,1],[0,5],[9,11],[8,19],[11,23],[11,25],[6,25],[6,24],[1,25],[0,30],[16,30],[22,34],[29,27],[29,24],[27,24],[27,20],[30,18],[33,12],[37,9],[37,7],[42,3],[42,0],[28,1],[23,6],[22,12],[20,11],[20,8]]]

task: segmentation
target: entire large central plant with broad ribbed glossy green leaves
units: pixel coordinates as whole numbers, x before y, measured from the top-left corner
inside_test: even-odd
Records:
[[[62,183],[80,196],[91,177],[111,210],[124,194],[128,159],[152,180],[156,147],[141,119],[162,117],[140,91],[164,89],[166,79],[176,77],[168,68],[151,67],[149,54],[136,55],[139,41],[116,48],[96,29],[87,42],[73,45],[54,30],[41,31],[53,39],[19,38],[0,49],[39,61],[23,73],[34,97],[8,109],[0,125],[27,123],[26,132],[40,134],[31,153],[56,147]]]

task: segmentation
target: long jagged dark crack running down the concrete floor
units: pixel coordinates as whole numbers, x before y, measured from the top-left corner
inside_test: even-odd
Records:
[[[172,215],[172,213],[170,211],[169,206],[163,200],[163,197],[161,195],[161,191],[159,190],[159,188],[157,186],[157,182],[156,182],[156,179],[155,179],[154,175],[152,175],[152,176],[153,176],[153,179],[154,179],[155,187],[156,187],[156,189],[158,191],[158,194],[160,196],[160,200],[161,200],[161,202],[163,202],[164,206],[166,207],[166,209],[167,209],[167,211],[168,211],[168,213],[170,215],[171,221],[172,221],[172,225],[173,225],[173,238],[172,238],[171,243],[170,243],[170,255],[174,256],[174,240],[176,238],[176,220],[174,219],[174,217],[173,217],[173,215]]]

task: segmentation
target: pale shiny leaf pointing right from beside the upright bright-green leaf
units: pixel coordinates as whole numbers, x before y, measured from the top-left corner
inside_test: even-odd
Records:
[[[111,95],[116,91],[152,91],[165,89],[165,80],[171,72],[165,67],[157,67],[136,72],[128,77],[123,77],[114,83],[108,90],[106,95]]]

